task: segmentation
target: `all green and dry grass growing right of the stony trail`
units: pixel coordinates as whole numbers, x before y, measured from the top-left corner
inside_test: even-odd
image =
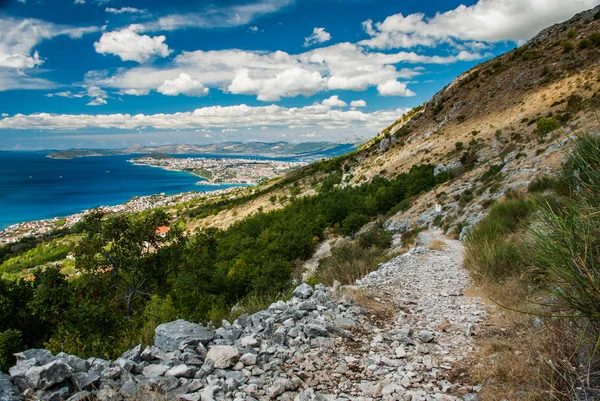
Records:
[[[494,366],[476,376],[489,383],[484,392],[580,399],[578,367],[594,375],[600,363],[600,139],[579,135],[561,176],[539,177],[529,192],[493,205],[466,241],[466,267],[516,326],[503,334],[511,348],[494,351]],[[540,316],[537,327],[519,310]],[[484,350],[479,362],[489,358]],[[504,373],[519,369],[530,383]]]

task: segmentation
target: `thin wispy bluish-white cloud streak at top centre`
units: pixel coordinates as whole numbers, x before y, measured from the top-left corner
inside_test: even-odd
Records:
[[[184,28],[229,28],[250,24],[255,19],[275,13],[295,0],[259,0],[228,7],[208,6],[200,12],[171,14],[144,24],[145,31],[174,31]]]

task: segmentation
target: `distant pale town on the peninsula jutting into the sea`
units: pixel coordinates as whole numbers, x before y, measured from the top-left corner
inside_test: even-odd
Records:
[[[304,166],[306,162],[257,160],[241,158],[171,157],[147,155],[129,160],[131,163],[185,171],[201,177],[199,184],[258,184]]]

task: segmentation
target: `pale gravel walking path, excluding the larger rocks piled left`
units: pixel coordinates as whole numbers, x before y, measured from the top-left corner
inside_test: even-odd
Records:
[[[417,248],[345,288],[344,297],[359,298],[374,312],[352,330],[354,339],[320,356],[321,374],[332,378],[321,389],[335,394],[327,399],[479,399],[478,388],[451,381],[486,317],[485,305],[465,295],[462,253],[461,242],[428,231]],[[319,399],[308,391],[300,400]]]

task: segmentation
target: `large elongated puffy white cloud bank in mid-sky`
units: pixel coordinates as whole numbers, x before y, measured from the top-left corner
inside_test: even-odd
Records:
[[[92,72],[86,81],[140,95],[156,91],[167,80],[185,73],[207,88],[233,94],[255,95],[261,101],[310,96],[327,90],[362,91],[388,81],[411,79],[421,67],[405,64],[450,64],[482,58],[461,51],[450,56],[423,56],[415,52],[368,52],[352,43],[340,43],[300,54],[283,51],[214,50],[183,52],[164,68],[135,67],[113,76]]]

